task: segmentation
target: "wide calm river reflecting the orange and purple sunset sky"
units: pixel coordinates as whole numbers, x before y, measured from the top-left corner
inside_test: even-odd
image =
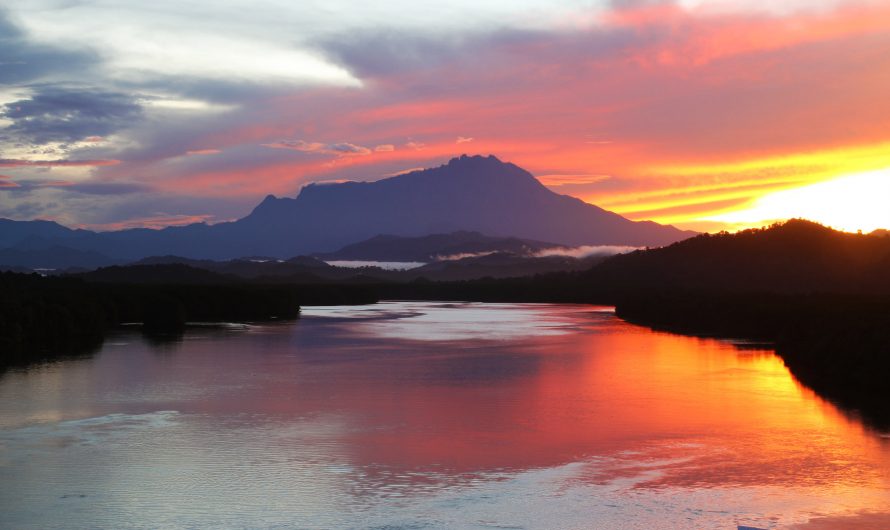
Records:
[[[0,377],[0,528],[887,528],[887,513],[890,439],[770,351],[590,306],[308,308],[177,343],[121,333]]]

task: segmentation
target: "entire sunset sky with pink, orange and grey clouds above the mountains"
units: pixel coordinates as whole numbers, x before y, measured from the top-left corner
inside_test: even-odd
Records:
[[[494,154],[702,231],[890,227],[890,2],[12,0],[0,217],[220,222]]]

